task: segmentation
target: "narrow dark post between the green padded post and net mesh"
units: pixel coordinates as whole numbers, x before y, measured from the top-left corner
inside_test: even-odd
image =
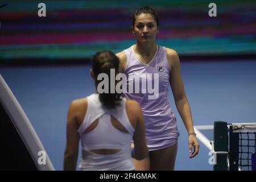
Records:
[[[238,171],[239,133],[233,133],[233,126],[229,126],[229,171]]]

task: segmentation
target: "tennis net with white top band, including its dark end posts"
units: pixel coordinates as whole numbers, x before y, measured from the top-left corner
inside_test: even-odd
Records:
[[[256,170],[256,123],[216,121],[213,136],[214,170]]]

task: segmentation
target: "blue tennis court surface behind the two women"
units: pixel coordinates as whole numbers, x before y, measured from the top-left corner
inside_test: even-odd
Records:
[[[63,169],[68,106],[72,100],[95,90],[89,70],[90,65],[86,64],[0,68],[56,170]],[[181,73],[200,152],[196,158],[188,158],[187,131],[170,90],[169,100],[180,131],[175,169],[213,170],[209,164],[213,122],[256,122],[256,60],[184,63],[181,60]]]

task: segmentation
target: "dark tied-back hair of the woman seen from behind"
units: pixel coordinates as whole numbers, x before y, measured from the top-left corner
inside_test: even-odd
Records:
[[[115,75],[118,73],[119,59],[111,51],[97,52],[92,57],[92,70],[94,72],[96,86],[101,80],[97,80],[100,73],[106,73],[109,77],[109,92],[99,93],[100,101],[103,105],[113,109],[116,105],[119,105],[121,101],[121,93],[117,93],[114,89],[114,93],[110,93],[110,69],[115,69]],[[114,76],[115,77],[115,76]]]

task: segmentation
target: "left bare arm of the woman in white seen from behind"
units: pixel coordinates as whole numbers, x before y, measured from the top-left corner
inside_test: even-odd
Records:
[[[68,109],[67,143],[64,154],[64,170],[76,170],[80,139],[77,129],[76,102],[73,101]]]

